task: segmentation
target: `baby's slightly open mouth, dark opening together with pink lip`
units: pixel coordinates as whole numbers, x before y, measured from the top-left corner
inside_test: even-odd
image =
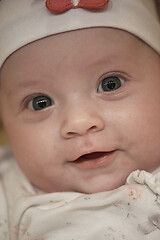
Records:
[[[108,165],[112,160],[115,154],[114,151],[110,152],[93,152],[89,154],[82,155],[74,161],[74,163],[79,168],[92,169],[99,168]]]

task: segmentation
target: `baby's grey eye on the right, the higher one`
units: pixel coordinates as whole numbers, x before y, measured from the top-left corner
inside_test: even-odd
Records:
[[[117,76],[110,76],[104,78],[99,86],[98,86],[98,92],[110,92],[115,91],[118,88],[120,88],[124,83],[124,80]]]

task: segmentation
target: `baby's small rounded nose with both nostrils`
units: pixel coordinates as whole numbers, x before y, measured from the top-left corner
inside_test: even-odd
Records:
[[[90,132],[97,132],[104,128],[104,121],[98,114],[95,106],[86,104],[81,106],[72,106],[64,116],[61,126],[61,136],[63,138],[73,138],[83,136]]]

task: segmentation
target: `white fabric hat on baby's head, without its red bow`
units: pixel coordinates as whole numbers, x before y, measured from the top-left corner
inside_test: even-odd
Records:
[[[87,2],[66,0],[75,6],[81,1]],[[104,1],[108,2],[98,0]],[[109,0],[100,9],[72,8],[63,13],[48,10],[45,0],[0,0],[0,67],[11,53],[30,42],[89,27],[123,29],[160,54],[160,23],[154,0]]]

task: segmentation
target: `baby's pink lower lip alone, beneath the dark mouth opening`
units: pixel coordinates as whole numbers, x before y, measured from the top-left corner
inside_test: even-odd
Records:
[[[116,151],[104,153],[96,158],[79,158],[74,163],[77,167],[83,169],[94,169],[109,165],[113,161]]]

